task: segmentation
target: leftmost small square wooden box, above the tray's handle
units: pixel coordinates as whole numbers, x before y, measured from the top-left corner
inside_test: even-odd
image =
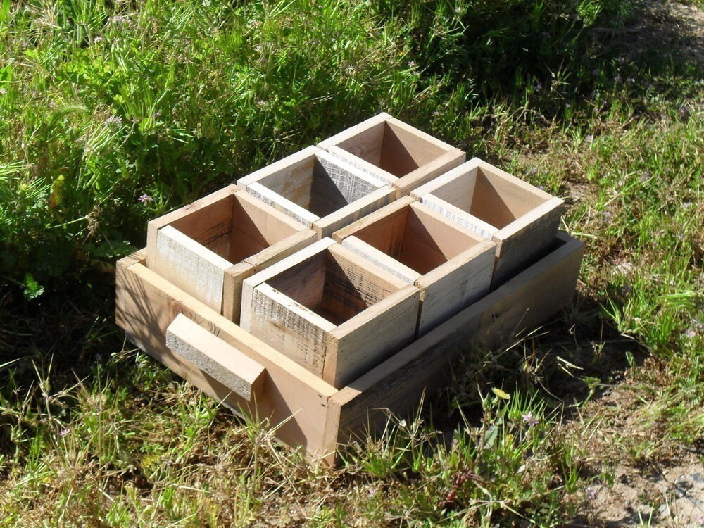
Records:
[[[306,226],[230,185],[151,220],[146,263],[239,322],[242,281],[315,239]]]

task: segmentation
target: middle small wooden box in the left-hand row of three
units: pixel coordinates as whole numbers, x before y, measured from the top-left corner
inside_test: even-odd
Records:
[[[318,238],[385,206],[389,184],[310,146],[237,181],[239,187],[310,227]]]

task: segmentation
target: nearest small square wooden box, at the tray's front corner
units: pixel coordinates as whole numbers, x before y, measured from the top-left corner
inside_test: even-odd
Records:
[[[341,388],[413,341],[419,296],[325,238],[244,281],[241,327]]]

